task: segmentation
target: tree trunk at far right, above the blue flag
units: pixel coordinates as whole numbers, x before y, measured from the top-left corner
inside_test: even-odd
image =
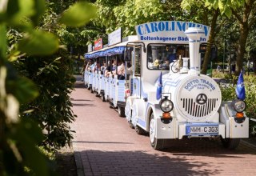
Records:
[[[235,75],[239,75],[242,70],[243,57],[246,52],[246,41],[249,34],[249,28],[247,22],[240,24],[240,37],[238,42],[238,54],[237,54],[237,64],[235,68]]]

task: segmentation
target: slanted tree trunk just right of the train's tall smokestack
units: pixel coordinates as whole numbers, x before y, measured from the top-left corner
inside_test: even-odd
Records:
[[[213,19],[210,24],[211,30],[210,30],[208,44],[206,47],[206,54],[205,54],[205,58],[204,58],[203,64],[202,64],[202,72],[201,72],[202,74],[206,74],[207,66],[210,62],[211,45],[214,42],[214,37],[216,34],[215,28],[216,28],[217,19],[218,19],[218,10],[214,10],[214,16],[213,16]]]

